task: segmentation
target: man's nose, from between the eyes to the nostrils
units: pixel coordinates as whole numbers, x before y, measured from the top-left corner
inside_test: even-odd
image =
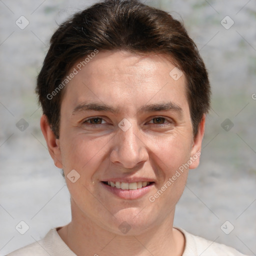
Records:
[[[146,145],[139,133],[136,124],[132,124],[126,131],[118,128],[110,153],[112,163],[122,168],[131,169],[138,167],[148,159]]]

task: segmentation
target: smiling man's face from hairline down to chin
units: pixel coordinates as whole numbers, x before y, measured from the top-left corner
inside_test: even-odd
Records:
[[[174,67],[160,55],[99,52],[66,85],[54,157],[73,216],[129,234],[173,218],[202,137],[193,138],[185,76],[173,79]]]

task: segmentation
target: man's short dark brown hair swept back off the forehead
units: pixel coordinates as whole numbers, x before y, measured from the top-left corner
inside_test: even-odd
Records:
[[[185,74],[193,134],[209,110],[210,86],[204,63],[184,26],[167,12],[137,0],[105,0],[75,13],[60,24],[37,77],[36,92],[52,131],[59,137],[63,82],[70,67],[97,50],[162,53]]]

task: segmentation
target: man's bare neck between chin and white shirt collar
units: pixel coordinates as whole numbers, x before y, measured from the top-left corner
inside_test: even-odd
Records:
[[[119,235],[72,211],[71,222],[58,233],[77,256],[181,256],[184,236],[172,225],[173,216],[139,234]]]

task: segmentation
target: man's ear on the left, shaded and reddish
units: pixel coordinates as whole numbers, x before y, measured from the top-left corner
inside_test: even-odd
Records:
[[[62,168],[61,162],[61,151],[59,147],[59,139],[56,138],[55,134],[50,128],[48,123],[48,119],[45,114],[41,116],[40,127],[42,134],[47,143],[48,151],[50,153],[51,158],[54,161],[54,164],[58,168]]]

